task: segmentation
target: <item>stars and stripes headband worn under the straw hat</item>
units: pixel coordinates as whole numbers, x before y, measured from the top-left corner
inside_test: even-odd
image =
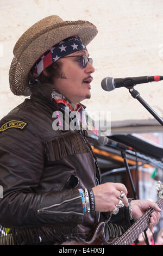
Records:
[[[39,59],[35,62],[33,67],[30,69],[30,76],[36,79],[39,77],[41,72],[58,59],[77,52],[80,50],[87,50],[82,40],[78,36],[71,36],[60,41],[58,44],[53,45],[45,53],[41,55]]]

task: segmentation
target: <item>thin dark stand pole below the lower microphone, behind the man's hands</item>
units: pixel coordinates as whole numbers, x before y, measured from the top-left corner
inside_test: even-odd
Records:
[[[129,168],[129,165],[128,165],[128,162],[127,162],[126,150],[121,150],[121,156],[123,158],[124,165],[126,166],[126,169],[127,169],[127,174],[128,174],[129,181],[130,181],[130,184],[131,184],[131,190],[133,191],[134,199],[138,199],[137,195],[136,195],[136,190],[135,190],[134,182],[133,182],[133,179],[132,179],[132,176],[131,176],[131,173],[130,173],[130,168]],[[145,229],[143,232],[145,234],[146,244],[149,245],[149,241],[148,241],[148,237],[147,237],[147,234],[146,234],[146,230],[147,229]]]

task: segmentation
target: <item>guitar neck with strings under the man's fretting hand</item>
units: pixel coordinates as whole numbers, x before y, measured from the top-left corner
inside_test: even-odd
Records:
[[[163,200],[160,198],[156,202],[160,209],[162,209],[163,206]],[[149,225],[149,218],[154,210],[150,208],[148,211],[146,211],[143,216],[137,220],[131,227],[118,239],[115,240],[115,242],[112,243],[112,245],[131,245],[137,237],[148,227]]]

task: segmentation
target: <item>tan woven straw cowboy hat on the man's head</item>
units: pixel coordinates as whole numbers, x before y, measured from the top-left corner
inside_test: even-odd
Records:
[[[85,45],[97,35],[97,28],[89,21],[63,21],[52,15],[30,27],[18,39],[9,70],[11,92],[29,96],[29,71],[48,48],[70,36],[79,36]]]

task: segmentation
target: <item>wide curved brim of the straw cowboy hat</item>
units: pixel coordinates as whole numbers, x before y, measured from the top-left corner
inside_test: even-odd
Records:
[[[30,96],[29,71],[48,48],[74,35],[79,36],[87,45],[97,33],[96,26],[89,21],[64,21],[51,26],[46,32],[37,34],[33,40],[26,43],[25,48],[20,48],[12,59],[9,70],[11,92],[15,95]]]

